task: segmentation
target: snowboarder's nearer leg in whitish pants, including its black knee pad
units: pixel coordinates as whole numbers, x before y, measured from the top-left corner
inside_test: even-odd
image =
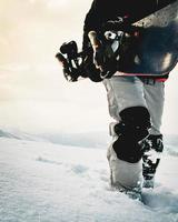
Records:
[[[111,185],[140,189],[142,182],[142,141],[148,135],[150,115],[144,98],[144,84],[137,77],[113,77],[103,81],[109,112],[117,120],[110,125],[113,142],[108,149]]]

